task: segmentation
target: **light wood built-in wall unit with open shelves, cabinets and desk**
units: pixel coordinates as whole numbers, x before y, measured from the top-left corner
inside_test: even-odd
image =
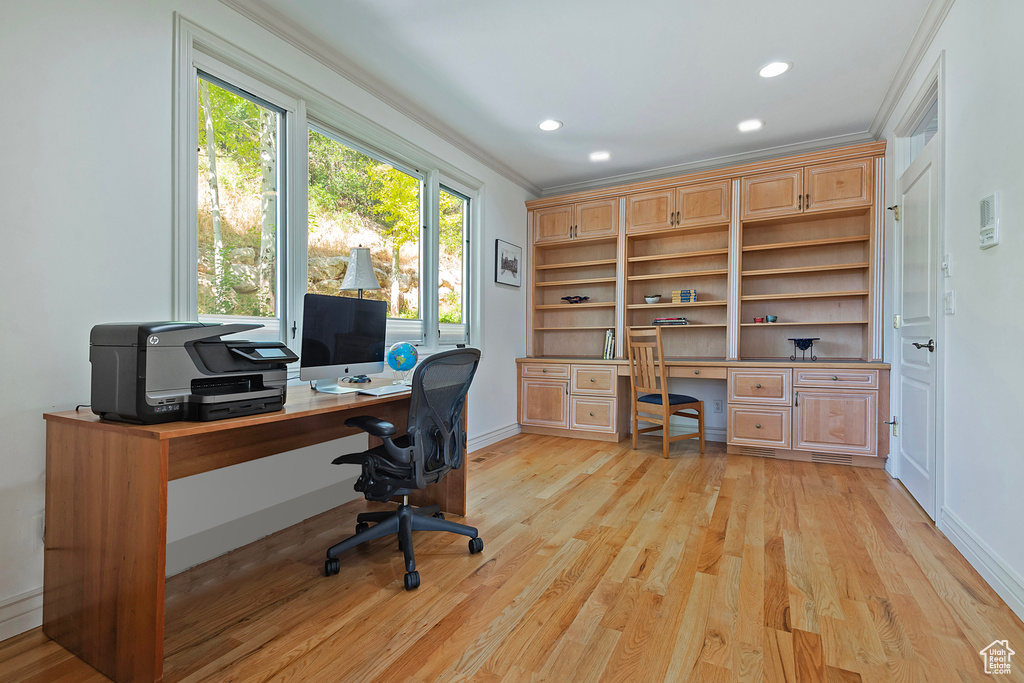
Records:
[[[663,327],[666,356],[675,376],[687,359],[698,373],[729,368],[730,446],[886,455],[884,153],[885,143],[868,143],[527,202],[529,359],[569,358],[566,373],[599,365],[608,330],[621,359],[626,328],[685,317]],[[674,301],[679,290],[696,294]],[[648,302],[652,295],[660,298]],[[839,370],[837,380],[801,374],[791,338],[816,338],[808,358],[859,364],[876,384]],[[751,388],[748,376],[762,381]],[[523,425],[592,432],[603,419],[594,405],[573,409],[572,396],[586,394],[572,392],[568,374],[558,400],[551,377],[532,379],[520,377]]]

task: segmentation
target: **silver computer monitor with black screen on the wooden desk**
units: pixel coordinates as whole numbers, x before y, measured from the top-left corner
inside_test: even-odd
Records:
[[[315,389],[346,393],[358,388],[338,379],[384,372],[387,302],[307,294],[302,306],[302,354],[299,379],[315,380]]]

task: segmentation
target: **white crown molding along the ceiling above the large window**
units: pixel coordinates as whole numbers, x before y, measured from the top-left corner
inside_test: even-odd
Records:
[[[358,67],[326,41],[317,38],[286,15],[269,7],[263,0],[220,0],[220,3],[276,36],[318,63],[327,67],[346,81],[353,83],[374,97],[377,97],[393,110],[426,128],[434,135],[437,135],[449,144],[480,162],[495,173],[514,182],[535,196],[541,196],[541,187],[473,142],[467,140],[443,122],[417,106],[386,83],[367,73],[366,70]]]

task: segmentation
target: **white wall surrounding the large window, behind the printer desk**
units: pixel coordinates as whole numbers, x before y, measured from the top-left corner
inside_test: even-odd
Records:
[[[93,325],[172,315],[174,11],[484,182],[477,247],[492,255],[480,279],[484,359],[470,396],[470,438],[514,429],[524,297],[488,272],[496,238],[525,242],[527,191],[213,0],[6,3],[0,639],[38,623],[38,612],[5,622],[3,610],[42,586],[42,413],[89,402]],[[306,449],[174,482],[169,540],[348,478],[351,471],[327,464],[340,450]]]

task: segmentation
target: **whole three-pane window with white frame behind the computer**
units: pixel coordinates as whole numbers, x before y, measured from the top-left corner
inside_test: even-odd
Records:
[[[176,30],[175,316],[258,323],[243,334],[297,350],[302,297],[355,296],[341,283],[361,246],[389,342],[468,341],[480,182],[180,16]]]

